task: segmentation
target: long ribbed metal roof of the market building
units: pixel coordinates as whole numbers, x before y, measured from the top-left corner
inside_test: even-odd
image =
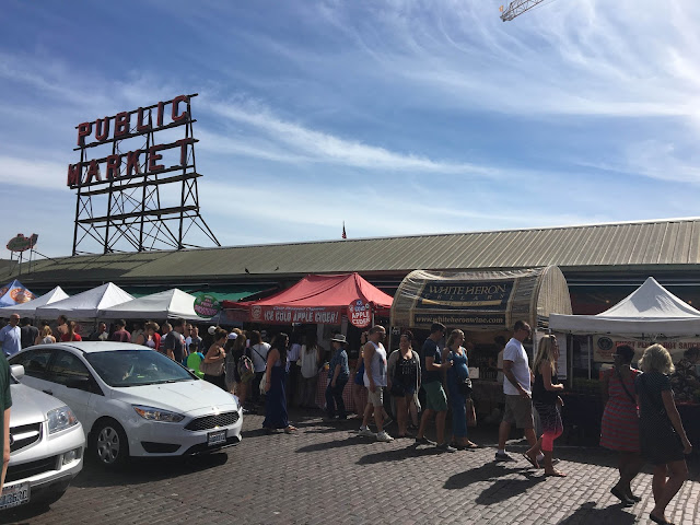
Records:
[[[571,271],[700,268],[700,218],[348,238],[42,259],[22,279],[66,282],[270,282],[307,273],[398,275],[559,266]],[[2,270],[0,270],[2,271]],[[14,270],[16,271],[16,270]],[[5,270],[0,280],[12,275]]]

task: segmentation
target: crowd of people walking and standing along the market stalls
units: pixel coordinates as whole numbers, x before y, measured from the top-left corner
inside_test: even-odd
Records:
[[[553,459],[553,443],[563,432],[563,400],[559,394],[564,386],[557,375],[559,345],[553,335],[542,336],[530,365],[523,346],[530,335],[529,325],[520,320],[508,342],[497,338],[498,372],[505,402],[494,459],[514,460],[505,445],[515,424],[523,430],[529,446],[523,458],[535,468],[541,465],[546,476],[563,477],[565,474],[555,468]],[[289,421],[288,405],[315,408],[318,378],[326,368],[326,421],[348,418],[343,392],[352,382],[353,405],[362,418],[359,435],[380,442],[394,441],[386,431],[392,422],[385,410],[386,393],[395,409],[397,438],[413,438],[416,445],[431,445],[443,452],[477,448],[479,445],[468,439],[467,431],[470,424],[476,424],[468,366],[468,349],[472,347],[462,330],[454,329],[441,348],[445,336],[445,326],[434,323],[417,352],[412,348],[413,335],[406,330],[400,334],[398,348],[387,354],[383,343],[386,330],[377,325],[362,334],[361,346],[354,350],[347,348],[345,335],[335,332],[327,352],[315,332],[292,331],[291,336],[279,332],[268,342],[265,330],[246,332],[210,326],[201,338],[199,327],[184,319],[162,326],[154,322],[136,324],[131,332],[119,319],[110,331],[105,323],[100,323],[88,339],[135,342],[164,353],[195,370],[205,381],[237,395],[245,410],[264,407],[262,427],[267,432],[296,431]],[[54,326],[43,324],[37,328],[31,319],[12,314],[0,329],[0,343],[7,357],[32,345],[81,339],[77,324],[65,316],[59,316]],[[665,509],[687,478],[685,455],[692,450],[673,392],[677,390],[682,399],[692,398],[697,392],[700,349],[687,350],[677,370],[661,345],[646,348],[639,369],[631,366],[633,358],[632,348],[619,346],[614,366],[603,374],[600,382],[605,404],[600,445],[619,454],[619,480],[610,492],[626,505],[639,501],[631,481],[645,460],[651,463],[655,506],[650,517],[656,523],[669,523]],[[448,411],[452,439],[445,435]],[[422,412],[420,421],[419,412]],[[534,413],[539,417],[539,433],[535,430]],[[433,418],[436,441],[425,435]],[[371,422],[376,432],[370,429]],[[411,435],[410,430],[416,430],[416,434]]]

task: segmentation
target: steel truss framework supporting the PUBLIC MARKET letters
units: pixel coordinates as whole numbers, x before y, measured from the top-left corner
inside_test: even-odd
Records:
[[[73,255],[94,254],[94,249],[88,249],[95,245],[101,247],[103,254],[201,247],[188,242],[194,235],[221,246],[200,214],[197,179],[201,174],[197,172],[195,162],[197,139],[192,129],[197,120],[191,118],[190,105],[194,96],[197,94],[187,97],[187,118],[183,122],[154,128],[152,113],[158,105],[153,105],[140,109],[144,117],[148,116],[149,131],[137,132],[136,128],[130,128],[124,138],[74,148],[74,151],[80,150],[81,177],[77,185]],[[149,171],[149,166],[152,166],[150,155],[153,154],[151,148],[155,145],[155,136],[179,126],[185,128],[186,145],[183,148],[186,150],[183,149],[183,158],[186,162]],[[96,182],[89,179],[84,184],[83,173],[90,163],[88,152],[91,148],[112,142],[112,154],[125,155],[126,152],[121,151],[122,141],[131,140],[133,143],[135,138],[140,137],[144,140],[139,148],[143,162],[139,159],[133,166],[133,175],[126,173],[127,167],[120,164],[119,173],[124,177],[107,177],[106,180]],[[175,144],[176,142],[172,142],[165,145],[172,148]]]

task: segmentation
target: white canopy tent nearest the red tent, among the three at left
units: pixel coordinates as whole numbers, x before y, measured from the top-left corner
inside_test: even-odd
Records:
[[[174,288],[101,310],[100,317],[107,319],[164,319],[182,317],[183,319],[205,320],[197,315],[194,306],[194,295]]]

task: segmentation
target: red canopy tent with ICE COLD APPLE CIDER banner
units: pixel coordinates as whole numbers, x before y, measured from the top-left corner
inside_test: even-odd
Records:
[[[224,301],[226,314],[238,320],[289,325],[317,323],[339,325],[341,316],[362,323],[373,313],[388,315],[394,299],[359,273],[310,275],[293,287],[258,301]],[[369,322],[368,322],[369,324]],[[358,325],[360,326],[360,325]]]

